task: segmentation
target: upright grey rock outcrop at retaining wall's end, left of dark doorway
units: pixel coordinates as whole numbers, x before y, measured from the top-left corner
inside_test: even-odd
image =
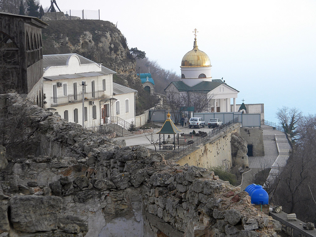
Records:
[[[242,167],[249,166],[248,155],[247,155],[247,152],[248,152],[247,142],[237,132],[234,132],[232,134],[231,148],[232,148],[233,166],[242,166]]]

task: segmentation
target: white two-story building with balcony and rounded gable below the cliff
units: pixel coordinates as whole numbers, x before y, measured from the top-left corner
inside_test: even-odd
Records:
[[[80,125],[84,119],[86,128],[135,121],[137,90],[113,83],[116,72],[76,53],[43,55],[43,66],[45,107],[61,118]]]

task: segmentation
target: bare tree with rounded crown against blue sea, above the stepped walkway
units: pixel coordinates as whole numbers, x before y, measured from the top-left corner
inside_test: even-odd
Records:
[[[297,140],[297,126],[299,125],[299,122],[302,119],[302,112],[299,111],[297,108],[289,108],[286,106],[283,106],[281,109],[278,108],[278,111],[276,112],[276,118],[281,123],[284,131],[288,133],[291,137],[292,142]]]

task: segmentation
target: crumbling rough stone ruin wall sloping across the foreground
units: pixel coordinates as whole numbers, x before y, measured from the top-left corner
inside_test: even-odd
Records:
[[[126,147],[17,94],[0,95],[2,115],[14,118],[26,105],[39,145],[26,157],[0,151],[1,237],[277,237],[280,223],[213,172]]]

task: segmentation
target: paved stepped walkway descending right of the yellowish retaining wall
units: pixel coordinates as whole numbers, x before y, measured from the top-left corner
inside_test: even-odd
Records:
[[[243,173],[243,181],[240,189],[244,190],[254,182],[253,175],[260,170],[271,167],[269,177],[273,173],[279,173],[280,167],[286,165],[291,149],[285,134],[278,130],[273,130],[267,125],[261,126],[263,129],[264,156],[249,157],[250,171]],[[269,178],[268,178],[269,179]]]

